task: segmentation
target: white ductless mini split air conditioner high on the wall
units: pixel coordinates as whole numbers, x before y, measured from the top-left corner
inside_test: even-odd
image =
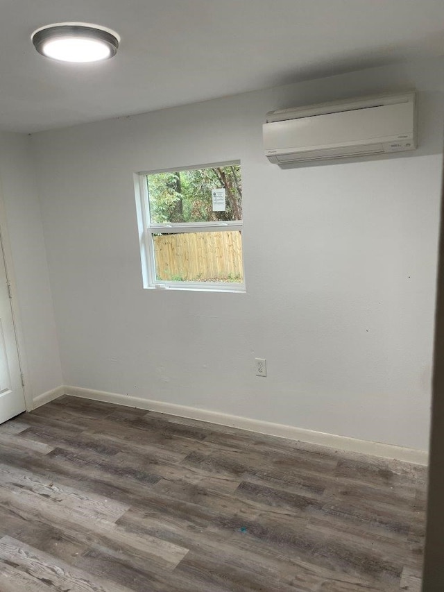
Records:
[[[267,113],[265,155],[274,164],[416,149],[416,93],[386,94]]]

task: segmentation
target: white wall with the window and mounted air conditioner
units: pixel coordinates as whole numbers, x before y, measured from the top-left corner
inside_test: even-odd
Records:
[[[418,62],[35,135],[65,384],[427,448],[441,81]],[[415,153],[264,158],[268,110],[412,86]],[[142,289],[133,173],[231,159],[247,293]]]

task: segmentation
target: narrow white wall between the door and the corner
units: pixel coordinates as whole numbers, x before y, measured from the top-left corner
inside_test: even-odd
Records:
[[[35,169],[27,135],[0,134],[0,185],[6,210],[5,237],[19,310],[19,338],[32,401],[63,384]]]

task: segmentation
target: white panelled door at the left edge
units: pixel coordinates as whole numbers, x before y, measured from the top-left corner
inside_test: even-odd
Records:
[[[0,242],[0,423],[26,411],[17,341]]]

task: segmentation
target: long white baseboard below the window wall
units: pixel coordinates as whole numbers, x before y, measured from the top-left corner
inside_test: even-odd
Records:
[[[336,448],[339,450],[347,450],[353,453],[396,459],[414,464],[427,465],[428,463],[428,453],[426,450],[402,448],[402,446],[393,446],[393,444],[359,440],[345,436],[336,436],[335,434],[325,434],[323,432],[314,432],[312,430],[294,428],[292,425],[260,421],[258,419],[228,415],[214,411],[207,411],[206,409],[185,407],[185,405],[164,403],[162,401],[142,399],[129,395],[108,393],[106,391],[94,391],[92,389],[81,389],[79,387],[64,387],[63,392],[71,396],[104,401],[105,403],[114,403],[114,405],[137,407],[138,409],[146,409],[147,411],[157,411],[179,417],[217,423],[219,425],[228,425],[230,428],[240,428],[241,430],[249,430],[250,432],[259,432],[259,434],[268,434],[269,436],[300,440],[311,444],[329,446],[330,448]]]

